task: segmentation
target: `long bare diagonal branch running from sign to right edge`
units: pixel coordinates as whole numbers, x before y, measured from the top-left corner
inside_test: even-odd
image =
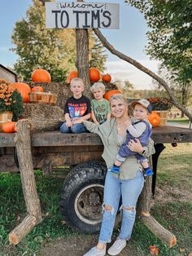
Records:
[[[100,41],[103,43],[103,46],[106,47],[113,55],[118,56],[120,59],[125,60],[138,68],[139,70],[142,70],[142,72],[148,74],[150,77],[153,77],[157,82],[159,82],[162,86],[164,86],[164,89],[167,91],[168,96],[172,102],[173,105],[175,105],[177,108],[181,110],[181,112],[185,113],[185,116],[189,117],[190,121],[192,121],[192,114],[181,104],[178,103],[175,95],[173,95],[172,90],[169,88],[168,84],[159,76],[157,76],[155,73],[153,73],[150,69],[144,67],[142,64],[137,62],[136,60],[133,60],[127,55],[124,55],[120,51],[116,51],[116,49],[111,46],[109,42],[107,42],[107,39],[103,36],[103,33],[100,32],[99,29],[93,29],[94,33],[97,35],[97,37],[100,39]]]

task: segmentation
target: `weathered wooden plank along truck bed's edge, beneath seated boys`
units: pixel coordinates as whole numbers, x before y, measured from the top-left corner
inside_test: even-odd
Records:
[[[14,147],[14,134],[0,133],[0,147]],[[187,143],[192,142],[192,130],[164,126],[153,129],[152,139],[155,143]],[[58,147],[58,146],[92,146],[102,145],[96,134],[62,134],[59,130],[31,132],[32,147]]]

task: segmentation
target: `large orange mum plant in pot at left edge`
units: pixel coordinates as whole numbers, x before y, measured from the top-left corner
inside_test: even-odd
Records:
[[[23,112],[20,92],[7,80],[0,78],[0,122],[17,121]]]

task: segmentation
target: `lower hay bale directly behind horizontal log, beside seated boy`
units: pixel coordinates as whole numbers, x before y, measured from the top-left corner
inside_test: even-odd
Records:
[[[45,119],[61,119],[64,118],[62,108],[51,104],[24,104],[23,118],[45,118]]]

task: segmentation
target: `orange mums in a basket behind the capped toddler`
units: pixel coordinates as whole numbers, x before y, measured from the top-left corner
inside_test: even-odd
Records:
[[[172,104],[168,99],[163,97],[154,97],[147,99],[152,106],[152,110],[159,114],[159,125],[166,126],[168,120],[168,111],[172,108]]]

